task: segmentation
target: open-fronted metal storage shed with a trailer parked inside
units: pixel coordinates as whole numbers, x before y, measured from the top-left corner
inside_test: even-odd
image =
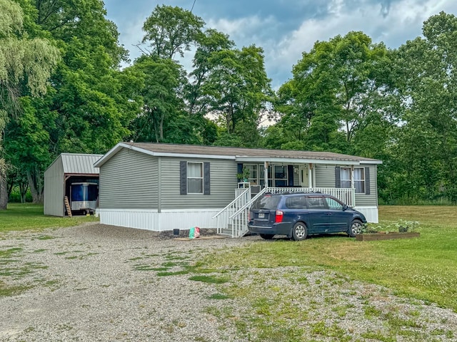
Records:
[[[99,187],[99,168],[94,163],[103,155],[61,153],[44,172],[44,214],[66,215],[65,197],[72,210],[84,210],[85,199],[96,202]],[[73,191],[73,201],[72,201]],[[89,198],[90,196],[91,198]],[[84,204],[84,205],[82,205]],[[91,207],[95,209],[95,203]]]

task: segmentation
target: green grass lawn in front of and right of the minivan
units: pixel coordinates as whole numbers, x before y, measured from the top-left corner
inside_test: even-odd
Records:
[[[204,259],[209,269],[307,266],[392,289],[457,311],[457,207],[383,206],[381,224],[420,223],[416,239],[357,242],[344,234],[303,242],[276,239]]]

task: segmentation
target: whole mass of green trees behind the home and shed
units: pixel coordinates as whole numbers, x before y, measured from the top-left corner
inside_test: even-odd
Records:
[[[381,201],[457,202],[452,14],[394,50],[363,32],[316,41],[276,93],[261,47],[191,11],[156,6],[143,29],[142,56],[120,70],[127,51],[103,1],[0,0],[0,208],[13,186],[39,202],[59,153],[121,140],[373,157]]]

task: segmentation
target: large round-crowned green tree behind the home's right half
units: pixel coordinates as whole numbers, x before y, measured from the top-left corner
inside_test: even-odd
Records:
[[[386,102],[391,95],[391,60],[383,43],[361,32],[317,41],[281,86],[276,110],[281,125],[308,149],[354,152],[363,130],[393,123]]]

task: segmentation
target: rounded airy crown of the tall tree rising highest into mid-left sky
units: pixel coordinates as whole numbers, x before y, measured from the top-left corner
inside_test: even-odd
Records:
[[[142,43],[147,43],[150,56],[173,59],[176,53],[184,57],[191,43],[198,40],[205,22],[191,11],[157,5],[143,25]]]

